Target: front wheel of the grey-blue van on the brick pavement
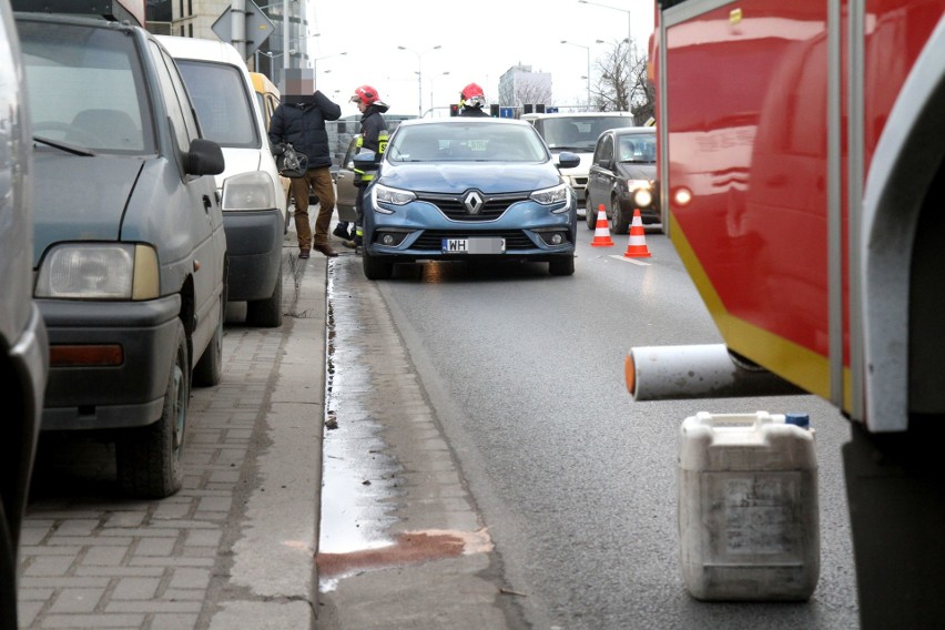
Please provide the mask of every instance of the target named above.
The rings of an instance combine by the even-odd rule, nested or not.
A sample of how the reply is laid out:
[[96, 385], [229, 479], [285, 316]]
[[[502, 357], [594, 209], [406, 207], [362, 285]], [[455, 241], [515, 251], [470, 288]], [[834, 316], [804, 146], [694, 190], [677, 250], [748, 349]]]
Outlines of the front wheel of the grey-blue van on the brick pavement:
[[191, 388], [187, 341], [177, 321], [177, 349], [167, 375], [164, 408], [156, 423], [125, 429], [115, 444], [115, 468], [121, 489], [143, 499], [163, 499], [184, 482], [183, 449]]

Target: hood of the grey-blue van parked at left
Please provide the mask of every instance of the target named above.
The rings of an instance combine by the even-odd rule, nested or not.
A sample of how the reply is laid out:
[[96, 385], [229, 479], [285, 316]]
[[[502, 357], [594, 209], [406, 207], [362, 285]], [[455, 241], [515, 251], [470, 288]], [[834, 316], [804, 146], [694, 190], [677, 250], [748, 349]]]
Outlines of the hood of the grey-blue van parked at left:
[[52, 243], [118, 241], [143, 159], [33, 154], [33, 265]]

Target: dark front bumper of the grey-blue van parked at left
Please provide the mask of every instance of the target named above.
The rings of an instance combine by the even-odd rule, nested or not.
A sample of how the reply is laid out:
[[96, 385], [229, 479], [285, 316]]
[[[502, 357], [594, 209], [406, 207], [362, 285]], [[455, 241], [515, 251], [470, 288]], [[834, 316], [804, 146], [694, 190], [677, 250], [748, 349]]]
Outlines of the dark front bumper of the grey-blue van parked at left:
[[161, 417], [176, 352], [181, 298], [149, 302], [38, 299], [49, 345], [119, 346], [119, 365], [51, 365], [42, 430], [149, 425]]

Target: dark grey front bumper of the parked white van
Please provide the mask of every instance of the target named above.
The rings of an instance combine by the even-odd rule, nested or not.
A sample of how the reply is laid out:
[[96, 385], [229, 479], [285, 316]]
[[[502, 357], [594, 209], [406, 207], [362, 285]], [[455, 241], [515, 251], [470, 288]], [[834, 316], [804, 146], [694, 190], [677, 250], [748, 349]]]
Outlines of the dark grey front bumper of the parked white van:
[[275, 291], [282, 264], [285, 222], [278, 210], [223, 213], [230, 264], [230, 302], [266, 299]]

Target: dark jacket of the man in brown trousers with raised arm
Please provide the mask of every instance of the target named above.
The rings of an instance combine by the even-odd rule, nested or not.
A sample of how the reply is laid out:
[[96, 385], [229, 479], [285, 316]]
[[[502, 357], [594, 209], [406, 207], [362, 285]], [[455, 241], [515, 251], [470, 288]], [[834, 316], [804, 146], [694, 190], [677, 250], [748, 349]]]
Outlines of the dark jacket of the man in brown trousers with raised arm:
[[[291, 101], [291, 98], [287, 98]], [[332, 152], [326, 120], [342, 118], [342, 108], [328, 96], [316, 91], [304, 102], [283, 102], [270, 121], [270, 140], [273, 144], [288, 142], [308, 156], [308, 167], [332, 165]]]

